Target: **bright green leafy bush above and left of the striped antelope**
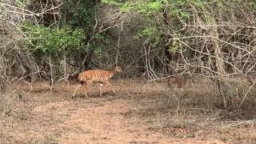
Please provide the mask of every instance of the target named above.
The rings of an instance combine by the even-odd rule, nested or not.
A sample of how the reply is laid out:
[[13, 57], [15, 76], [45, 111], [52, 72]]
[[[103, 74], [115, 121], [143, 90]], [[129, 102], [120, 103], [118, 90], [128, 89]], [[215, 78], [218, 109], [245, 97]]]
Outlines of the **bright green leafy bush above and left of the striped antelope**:
[[69, 26], [63, 29], [56, 27], [35, 26], [30, 22], [22, 23], [22, 30], [28, 38], [26, 48], [37, 58], [57, 57], [62, 54], [73, 54], [82, 47], [85, 34], [82, 29], [72, 30]]

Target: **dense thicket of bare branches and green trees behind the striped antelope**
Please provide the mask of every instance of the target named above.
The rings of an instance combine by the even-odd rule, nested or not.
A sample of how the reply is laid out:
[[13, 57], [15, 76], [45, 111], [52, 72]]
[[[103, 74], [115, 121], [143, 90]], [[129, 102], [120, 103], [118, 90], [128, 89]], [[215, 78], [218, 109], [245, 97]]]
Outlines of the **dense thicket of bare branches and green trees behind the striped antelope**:
[[53, 84], [115, 62], [123, 77], [211, 78], [224, 107], [234, 105], [234, 95], [241, 107], [254, 96], [255, 6], [242, 0], [2, 1], [0, 82], [45, 78]]

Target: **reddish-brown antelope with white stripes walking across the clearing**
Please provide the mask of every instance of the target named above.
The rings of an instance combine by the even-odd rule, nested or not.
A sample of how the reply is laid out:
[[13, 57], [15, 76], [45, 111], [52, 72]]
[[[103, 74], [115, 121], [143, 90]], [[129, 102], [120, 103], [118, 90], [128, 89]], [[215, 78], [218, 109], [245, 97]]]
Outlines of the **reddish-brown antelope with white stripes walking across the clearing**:
[[74, 94], [72, 95], [72, 98], [74, 98], [74, 95], [76, 94], [76, 91], [83, 85], [85, 85], [85, 94], [86, 98], [88, 98], [87, 95], [87, 89], [88, 86], [92, 83], [100, 83], [100, 97], [102, 97], [102, 85], [110, 86], [113, 93], [115, 94], [114, 88], [110, 83], [110, 78], [114, 76], [114, 74], [121, 73], [122, 68], [120, 66], [116, 66], [114, 64], [113, 70], [86, 70], [80, 74], [78, 74], [78, 82], [81, 82], [79, 86], [76, 87], [74, 90]]

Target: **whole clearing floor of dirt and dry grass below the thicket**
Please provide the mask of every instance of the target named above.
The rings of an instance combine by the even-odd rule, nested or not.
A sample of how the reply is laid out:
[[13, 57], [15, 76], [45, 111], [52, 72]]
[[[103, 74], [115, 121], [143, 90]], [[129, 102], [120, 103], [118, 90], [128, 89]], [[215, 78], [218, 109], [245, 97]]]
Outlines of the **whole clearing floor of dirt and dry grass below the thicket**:
[[[1, 97], [0, 142], [254, 142], [254, 90], [242, 102], [249, 85], [232, 84], [237, 90], [230, 91], [234, 96], [225, 108], [216, 86], [206, 79], [182, 89], [164, 82], [156, 86], [141, 79], [117, 80], [116, 96], [99, 98], [94, 85], [89, 99], [82, 90], [71, 99], [73, 83], [58, 83], [51, 95], [45, 82], [34, 84], [30, 93], [30, 86], [20, 83]], [[118, 134], [126, 138], [120, 140]]]

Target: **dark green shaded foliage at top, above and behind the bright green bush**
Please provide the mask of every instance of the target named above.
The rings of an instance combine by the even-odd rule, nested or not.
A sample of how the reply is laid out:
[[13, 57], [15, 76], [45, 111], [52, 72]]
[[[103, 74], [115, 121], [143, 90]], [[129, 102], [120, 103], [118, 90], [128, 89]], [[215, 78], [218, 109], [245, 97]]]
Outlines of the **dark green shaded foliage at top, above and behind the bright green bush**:
[[[95, 23], [95, 0], [85, 0], [75, 2], [73, 0], [64, 0], [61, 8], [62, 18], [59, 20], [59, 26], [70, 26], [73, 30], [82, 29], [86, 33], [86, 38], [82, 41], [85, 50], [94, 51], [95, 54], [100, 54], [103, 51], [103, 46], [98, 46], [95, 42], [104, 42], [101, 34], [92, 34]], [[93, 38], [93, 41], [89, 41]], [[89, 42], [88, 42], [89, 41]]]

